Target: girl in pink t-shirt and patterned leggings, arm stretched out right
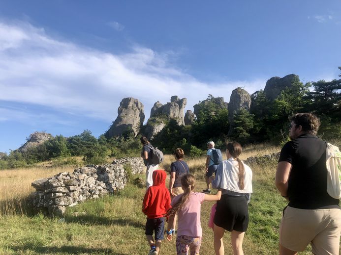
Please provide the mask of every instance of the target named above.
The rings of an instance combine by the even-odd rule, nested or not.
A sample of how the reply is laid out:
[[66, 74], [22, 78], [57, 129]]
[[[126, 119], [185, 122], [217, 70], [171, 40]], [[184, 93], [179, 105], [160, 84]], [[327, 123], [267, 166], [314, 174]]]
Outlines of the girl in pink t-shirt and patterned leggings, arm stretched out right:
[[221, 191], [216, 195], [208, 195], [193, 192], [195, 178], [191, 174], [183, 175], [181, 178], [183, 194], [172, 200], [172, 208], [168, 210], [167, 239], [172, 240], [176, 222], [174, 216], [178, 212], [178, 232], [176, 239], [177, 255], [199, 254], [201, 246], [202, 228], [200, 224], [200, 211], [203, 201], [217, 201], [220, 199]]

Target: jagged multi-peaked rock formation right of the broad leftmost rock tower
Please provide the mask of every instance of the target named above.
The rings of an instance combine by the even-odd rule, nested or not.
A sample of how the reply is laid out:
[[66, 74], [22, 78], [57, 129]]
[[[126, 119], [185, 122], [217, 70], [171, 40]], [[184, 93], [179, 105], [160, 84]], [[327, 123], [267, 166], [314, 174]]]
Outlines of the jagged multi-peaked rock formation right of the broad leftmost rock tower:
[[153, 139], [155, 134], [165, 127], [166, 122], [174, 119], [179, 125], [185, 125], [184, 114], [187, 99], [179, 99], [178, 96], [172, 96], [171, 102], [162, 104], [155, 102], [151, 109], [151, 116], [145, 127], [145, 134], [148, 139]]

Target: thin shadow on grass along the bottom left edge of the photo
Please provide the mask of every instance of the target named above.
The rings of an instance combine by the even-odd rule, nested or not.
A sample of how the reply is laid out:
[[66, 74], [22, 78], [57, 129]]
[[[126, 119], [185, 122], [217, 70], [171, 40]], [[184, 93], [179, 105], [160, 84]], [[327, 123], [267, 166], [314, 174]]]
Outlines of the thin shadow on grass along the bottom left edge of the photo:
[[79, 246], [68, 246], [64, 245], [61, 247], [56, 246], [39, 246], [34, 244], [25, 244], [23, 246], [13, 246], [8, 247], [9, 249], [20, 252], [20, 251], [31, 251], [37, 254], [54, 254], [61, 253], [65, 255], [72, 254], [100, 254], [100, 255], [127, 255], [124, 253], [114, 252], [112, 249], [103, 249], [103, 248], [86, 248]]

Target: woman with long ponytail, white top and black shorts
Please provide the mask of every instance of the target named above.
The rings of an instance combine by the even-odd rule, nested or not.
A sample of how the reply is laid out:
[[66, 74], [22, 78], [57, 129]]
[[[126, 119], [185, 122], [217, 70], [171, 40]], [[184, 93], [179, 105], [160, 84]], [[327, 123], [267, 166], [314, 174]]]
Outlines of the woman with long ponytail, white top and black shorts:
[[213, 188], [222, 189], [213, 221], [216, 255], [224, 254], [222, 238], [225, 230], [231, 232], [233, 254], [244, 254], [243, 239], [248, 229], [248, 203], [252, 193], [252, 171], [239, 159], [238, 156], [241, 153], [242, 146], [239, 143], [227, 143], [227, 160], [219, 164], [216, 178], [210, 178]]

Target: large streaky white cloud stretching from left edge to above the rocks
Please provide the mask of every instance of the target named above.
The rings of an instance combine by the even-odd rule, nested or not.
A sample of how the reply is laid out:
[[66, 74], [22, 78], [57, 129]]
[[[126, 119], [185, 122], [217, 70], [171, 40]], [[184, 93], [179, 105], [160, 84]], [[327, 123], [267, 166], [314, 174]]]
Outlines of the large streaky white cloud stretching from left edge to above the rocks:
[[[173, 95], [186, 97], [186, 108], [192, 109], [208, 94], [228, 102], [238, 86], [249, 93], [265, 86], [265, 79], [200, 82], [171, 66], [170, 54], [138, 46], [129, 53], [113, 54], [54, 39], [28, 23], [0, 22], [0, 100], [113, 121], [125, 97], [139, 99], [149, 117], [156, 101], [169, 102]], [[25, 114], [18, 112], [22, 111], [9, 114], [7, 110], [1, 121]]]

